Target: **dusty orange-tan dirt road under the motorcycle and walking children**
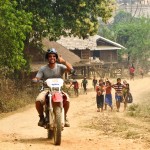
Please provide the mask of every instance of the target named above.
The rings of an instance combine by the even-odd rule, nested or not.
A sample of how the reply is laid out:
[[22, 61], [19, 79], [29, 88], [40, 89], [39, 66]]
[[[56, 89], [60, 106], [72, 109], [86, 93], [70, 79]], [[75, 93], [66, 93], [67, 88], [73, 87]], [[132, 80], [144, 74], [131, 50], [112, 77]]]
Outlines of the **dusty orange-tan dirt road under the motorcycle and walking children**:
[[[134, 103], [150, 101], [150, 78], [129, 81]], [[81, 89], [82, 91], [82, 89]], [[114, 97], [114, 96], [113, 96]], [[148, 150], [150, 122], [127, 117], [123, 112], [108, 108], [97, 112], [95, 92], [71, 98], [69, 121], [71, 127], [62, 132], [61, 146], [47, 139], [45, 129], [38, 127], [34, 105], [0, 119], [0, 150]]]

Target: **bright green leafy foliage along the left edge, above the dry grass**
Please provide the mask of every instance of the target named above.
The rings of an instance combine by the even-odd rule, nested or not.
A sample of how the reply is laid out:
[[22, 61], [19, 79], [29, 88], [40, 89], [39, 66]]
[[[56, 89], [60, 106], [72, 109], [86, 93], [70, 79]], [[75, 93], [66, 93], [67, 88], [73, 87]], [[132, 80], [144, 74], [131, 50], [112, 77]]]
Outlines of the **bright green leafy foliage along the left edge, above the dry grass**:
[[26, 64], [24, 41], [31, 31], [31, 13], [16, 10], [17, 3], [0, 1], [0, 68], [19, 70]]

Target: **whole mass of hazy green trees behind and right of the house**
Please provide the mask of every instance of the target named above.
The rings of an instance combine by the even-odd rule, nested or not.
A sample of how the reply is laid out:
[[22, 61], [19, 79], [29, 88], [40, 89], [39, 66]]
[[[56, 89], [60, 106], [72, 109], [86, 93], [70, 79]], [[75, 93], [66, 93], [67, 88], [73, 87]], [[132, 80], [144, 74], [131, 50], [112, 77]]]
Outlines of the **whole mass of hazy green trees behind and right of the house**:
[[114, 17], [112, 24], [103, 25], [99, 34], [127, 48], [126, 51], [119, 51], [119, 56], [127, 53], [130, 62], [136, 62], [148, 68], [147, 59], [150, 58], [149, 29], [149, 18], [134, 18], [130, 13], [120, 11]]

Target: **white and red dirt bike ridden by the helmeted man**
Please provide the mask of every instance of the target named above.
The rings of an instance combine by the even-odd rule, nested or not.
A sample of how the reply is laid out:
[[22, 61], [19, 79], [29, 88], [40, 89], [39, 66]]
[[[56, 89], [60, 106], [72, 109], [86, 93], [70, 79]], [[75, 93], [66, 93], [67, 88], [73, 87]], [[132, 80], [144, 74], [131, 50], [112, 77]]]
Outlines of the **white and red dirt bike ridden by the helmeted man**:
[[54, 138], [54, 144], [61, 144], [61, 134], [64, 129], [65, 115], [63, 108], [63, 92], [62, 86], [64, 81], [61, 78], [47, 79], [45, 81], [48, 87], [48, 95], [46, 96], [46, 124], [44, 126], [48, 132], [48, 138]]

